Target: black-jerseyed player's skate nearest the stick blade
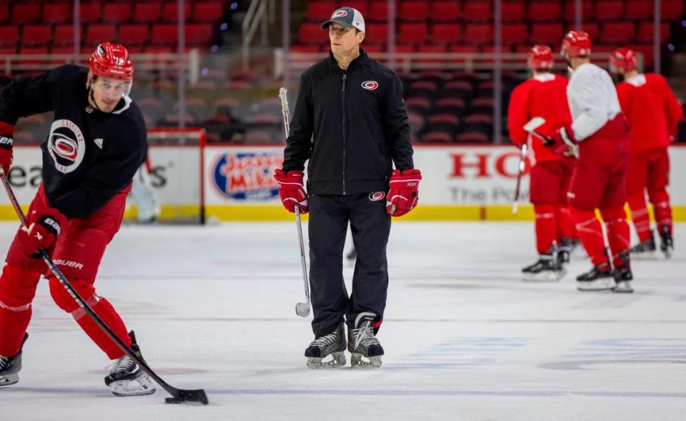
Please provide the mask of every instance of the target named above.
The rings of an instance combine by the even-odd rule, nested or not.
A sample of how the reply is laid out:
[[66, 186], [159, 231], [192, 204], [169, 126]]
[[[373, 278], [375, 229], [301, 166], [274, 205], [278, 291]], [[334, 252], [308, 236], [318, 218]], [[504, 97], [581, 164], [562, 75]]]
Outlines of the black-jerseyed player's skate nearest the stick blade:
[[[134, 335], [133, 330], [129, 332], [129, 336], [131, 337], [131, 350], [142, 359], [141, 349], [136, 344], [136, 335]], [[116, 396], [151, 395], [156, 390], [154, 382], [128, 355], [124, 355], [114, 362], [114, 367], [105, 377], [105, 385], [109, 386], [109, 389]]]

